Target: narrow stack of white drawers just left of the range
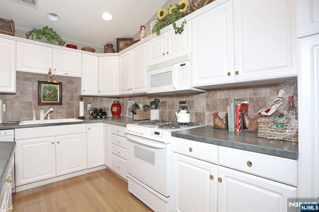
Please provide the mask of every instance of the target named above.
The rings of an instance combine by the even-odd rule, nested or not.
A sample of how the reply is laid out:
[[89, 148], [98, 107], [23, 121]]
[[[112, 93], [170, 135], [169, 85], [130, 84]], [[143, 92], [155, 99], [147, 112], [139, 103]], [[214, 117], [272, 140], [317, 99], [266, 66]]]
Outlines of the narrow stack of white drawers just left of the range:
[[111, 169], [127, 180], [126, 176], [126, 127], [111, 125]]

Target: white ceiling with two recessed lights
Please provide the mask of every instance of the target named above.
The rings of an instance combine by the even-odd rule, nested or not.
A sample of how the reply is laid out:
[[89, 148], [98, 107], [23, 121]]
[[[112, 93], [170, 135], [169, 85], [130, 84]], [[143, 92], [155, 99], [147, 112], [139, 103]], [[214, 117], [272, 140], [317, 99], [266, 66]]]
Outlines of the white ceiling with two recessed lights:
[[[29, 0], [31, 1], [31, 0]], [[15, 28], [26, 31], [49, 26], [64, 40], [104, 48], [116, 38], [132, 38], [167, 0], [36, 0], [32, 8], [11, 0], [1, 0], [0, 17], [12, 19]], [[113, 19], [102, 19], [110, 12]], [[48, 13], [60, 16], [49, 20]]]

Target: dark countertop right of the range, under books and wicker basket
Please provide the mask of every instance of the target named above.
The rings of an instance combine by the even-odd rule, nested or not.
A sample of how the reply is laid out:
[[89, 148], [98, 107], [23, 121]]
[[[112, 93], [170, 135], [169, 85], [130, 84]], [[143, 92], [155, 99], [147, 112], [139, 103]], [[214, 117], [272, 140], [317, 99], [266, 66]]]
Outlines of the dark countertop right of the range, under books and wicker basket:
[[298, 159], [298, 143], [257, 137], [252, 132], [229, 132], [206, 125], [172, 132], [172, 136], [188, 140], [248, 150], [290, 159]]

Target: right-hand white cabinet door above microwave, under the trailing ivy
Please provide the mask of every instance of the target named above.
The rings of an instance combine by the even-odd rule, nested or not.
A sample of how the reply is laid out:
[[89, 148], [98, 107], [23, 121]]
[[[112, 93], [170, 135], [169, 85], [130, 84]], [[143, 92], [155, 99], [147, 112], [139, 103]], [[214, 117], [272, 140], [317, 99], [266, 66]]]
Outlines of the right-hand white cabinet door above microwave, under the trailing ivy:
[[[184, 19], [176, 21], [176, 25], [180, 26]], [[191, 20], [188, 20], [184, 25], [184, 30], [181, 34], [175, 34], [174, 29], [166, 32], [166, 59], [176, 58], [191, 52]]]

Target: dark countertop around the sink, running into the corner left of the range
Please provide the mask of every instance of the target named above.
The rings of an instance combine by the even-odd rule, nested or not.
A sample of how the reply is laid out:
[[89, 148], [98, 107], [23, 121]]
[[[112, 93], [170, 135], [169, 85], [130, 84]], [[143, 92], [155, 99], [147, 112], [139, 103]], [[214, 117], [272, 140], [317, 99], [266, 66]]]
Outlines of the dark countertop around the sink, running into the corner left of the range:
[[81, 123], [96, 123], [103, 122], [109, 124], [115, 124], [119, 126], [126, 126], [129, 123], [137, 123], [138, 121], [133, 120], [133, 118], [127, 118], [124, 116], [120, 117], [108, 117], [108, 118], [85, 118], [83, 121], [78, 122], [60, 122], [60, 123], [41, 123], [41, 124], [28, 124], [28, 125], [19, 125], [19, 121], [15, 123], [2, 123], [0, 124], [1, 129], [17, 129], [17, 128], [27, 128], [27, 127], [39, 127], [39, 126], [56, 126], [56, 125], [66, 125], [66, 124], [81, 124]]

